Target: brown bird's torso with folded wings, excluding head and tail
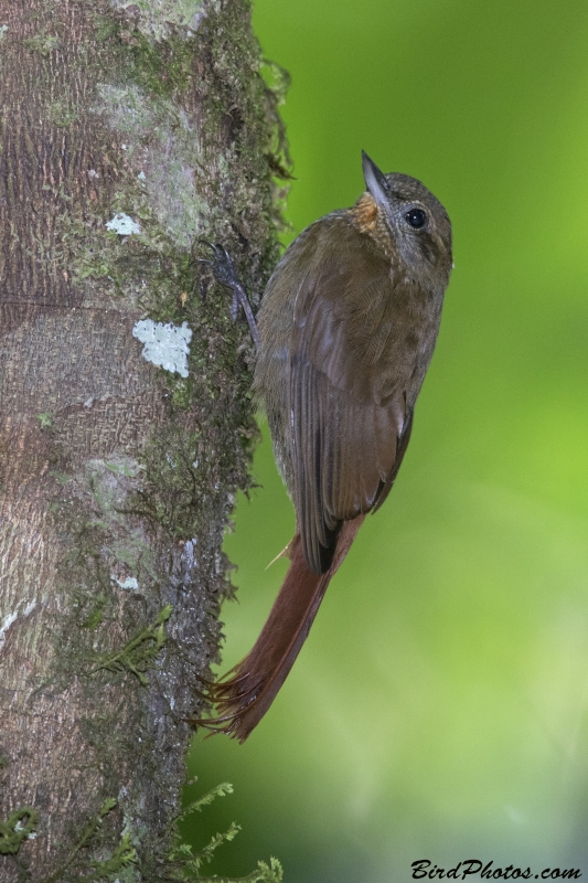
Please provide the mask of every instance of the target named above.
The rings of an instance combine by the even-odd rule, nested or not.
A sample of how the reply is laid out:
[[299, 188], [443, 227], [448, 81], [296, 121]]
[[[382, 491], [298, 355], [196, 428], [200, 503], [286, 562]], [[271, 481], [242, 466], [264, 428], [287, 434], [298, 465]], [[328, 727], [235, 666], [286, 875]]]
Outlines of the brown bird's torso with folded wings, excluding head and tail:
[[387, 496], [432, 352], [438, 316], [394, 272], [334, 213], [292, 243], [261, 304], [255, 391], [317, 574], [343, 521]]

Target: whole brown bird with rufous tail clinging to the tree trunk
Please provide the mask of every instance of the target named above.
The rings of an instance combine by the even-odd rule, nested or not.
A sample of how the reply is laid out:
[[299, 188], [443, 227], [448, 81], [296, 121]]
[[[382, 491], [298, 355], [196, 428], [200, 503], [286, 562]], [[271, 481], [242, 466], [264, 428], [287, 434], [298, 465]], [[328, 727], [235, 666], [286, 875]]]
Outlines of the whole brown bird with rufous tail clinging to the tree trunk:
[[[365, 515], [388, 496], [437, 340], [452, 269], [441, 203], [362, 151], [365, 191], [310, 224], [276, 265], [256, 318], [228, 253], [217, 278], [243, 304], [257, 345], [253, 391], [296, 510], [290, 566], [250, 652], [207, 683], [216, 716], [244, 742], [268, 711]], [[247, 304], [246, 304], [247, 301]], [[248, 309], [248, 311], [247, 311]]]

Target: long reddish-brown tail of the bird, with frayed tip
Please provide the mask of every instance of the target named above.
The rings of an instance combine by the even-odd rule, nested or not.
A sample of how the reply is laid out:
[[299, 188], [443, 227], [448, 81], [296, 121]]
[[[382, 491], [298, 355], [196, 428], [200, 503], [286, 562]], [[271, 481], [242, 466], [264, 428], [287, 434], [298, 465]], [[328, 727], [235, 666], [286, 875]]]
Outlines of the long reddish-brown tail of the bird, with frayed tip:
[[343, 523], [332, 564], [320, 575], [309, 570], [300, 535], [296, 534], [289, 546], [292, 563], [254, 648], [207, 689], [206, 698], [216, 706], [217, 716], [196, 720], [194, 724], [245, 742], [292, 668], [327, 586], [348, 554], [363, 519], [364, 515], [359, 515]]

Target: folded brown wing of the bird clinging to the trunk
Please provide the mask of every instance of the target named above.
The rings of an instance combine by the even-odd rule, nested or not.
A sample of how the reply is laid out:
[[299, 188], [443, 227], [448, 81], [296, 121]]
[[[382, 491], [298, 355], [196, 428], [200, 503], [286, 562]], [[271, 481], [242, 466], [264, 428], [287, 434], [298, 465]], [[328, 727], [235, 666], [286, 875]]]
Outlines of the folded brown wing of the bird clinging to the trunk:
[[[351, 238], [322, 248], [300, 283], [290, 347], [288, 415], [298, 530], [309, 566], [331, 564], [341, 523], [387, 496], [411, 414], [395, 375], [389, 264]], [[403, 325], [400, 320], [400, 325]]]

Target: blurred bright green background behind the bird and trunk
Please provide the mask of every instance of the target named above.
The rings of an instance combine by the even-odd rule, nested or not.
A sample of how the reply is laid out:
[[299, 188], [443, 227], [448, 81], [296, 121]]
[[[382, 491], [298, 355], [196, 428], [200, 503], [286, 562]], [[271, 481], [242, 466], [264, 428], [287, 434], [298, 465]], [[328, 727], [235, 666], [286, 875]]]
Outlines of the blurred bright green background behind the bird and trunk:
[[[393, 493], [250, 740], [196, 736], [190, 795], [235, 794], [194, 837], [236, 819], [213, 871], [274, 854], [287, 883], [588, 874], [588, 3], [256, 0], [254, 26], [292, 75], [295, 233], [354, 202], [363, 148], [445, 203], [456, 268]], [[223, 668], [293, 529], [267, 432], [255, 474]]]

